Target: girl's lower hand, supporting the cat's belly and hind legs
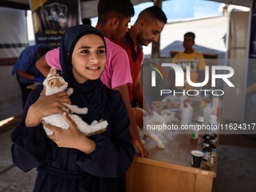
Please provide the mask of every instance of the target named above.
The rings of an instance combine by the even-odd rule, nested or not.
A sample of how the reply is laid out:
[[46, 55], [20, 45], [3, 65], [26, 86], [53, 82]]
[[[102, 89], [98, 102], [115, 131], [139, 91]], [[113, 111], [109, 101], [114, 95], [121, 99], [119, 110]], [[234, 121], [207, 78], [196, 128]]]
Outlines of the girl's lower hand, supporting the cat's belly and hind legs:
[[66, 122], [69, 123], [68, 130], [42, 122], [47, 129], [53, 131], [53, 135], [48, 136], [59, 148], [76, 148], [85, 154], [90, 154], [96, 148], [95, 142], [84, 136], [75, 122], [69, 117], [67, 112], [63, 113]]

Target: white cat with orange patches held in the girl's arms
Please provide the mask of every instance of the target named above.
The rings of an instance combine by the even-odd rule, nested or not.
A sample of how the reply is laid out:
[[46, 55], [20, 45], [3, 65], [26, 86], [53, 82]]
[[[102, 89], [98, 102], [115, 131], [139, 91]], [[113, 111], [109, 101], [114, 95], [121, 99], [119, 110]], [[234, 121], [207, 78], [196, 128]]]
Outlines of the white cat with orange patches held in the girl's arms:
[[[68, 83], [60, 77], [56, 69], [52, 67], [50, 69], [49, 74], [47, 75], [47, 78], [44, 80], [43, 84], [46, 86], [46, 96], [50, 96], [53, 93], [59, 93], [68, 87]], [[67, 90], [67, 93], [69, 96], [73, 93], [73, 89], [69, 88]], [[80, 130], [81, 133], [84, 134], [84, 136], [88, 136], [90, 133], [95, 133], [99, 130], [104, 130], [108, 126], [108, 122], [106, 120], [98, 123], [96, 120], [94, 120], [90, 125], [88, 125], [84, 120], [81, 119], [77, 114], [87, 114], [88, 108], [78, 108], [76, 105], [69, 105], [68, 103], [62, 103], [66, 105], [69, 110], [70, 114], [69, 117], [72, 118], [72, 120], [75, 121], [75, 123], [78, 126], [78, 130]], [[73, 114], [75, 113], [75, 114]], [[47, 117], [43, 117], [42, 120], [46, 121], [46, 123], [49, 123], [53, 126], [58, 126], [62, 129], [69, 129], [69, 123], [66, 122], [62, 114], [50, 114]], [[50, 136], [53, 134], [51, 130], [48, 130], [47, 127], [44, 126], [45, 133], [47, 136]]]

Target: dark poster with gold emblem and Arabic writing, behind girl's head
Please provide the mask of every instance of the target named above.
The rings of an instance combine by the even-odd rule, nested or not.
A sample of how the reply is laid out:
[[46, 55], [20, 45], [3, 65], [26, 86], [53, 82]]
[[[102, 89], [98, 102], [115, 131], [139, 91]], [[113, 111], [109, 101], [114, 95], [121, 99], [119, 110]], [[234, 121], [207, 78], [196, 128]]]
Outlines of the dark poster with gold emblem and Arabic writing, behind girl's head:
[[36, 44], [59, 47], [66, 29], [79, 23], [78, 0], [30, 0]]

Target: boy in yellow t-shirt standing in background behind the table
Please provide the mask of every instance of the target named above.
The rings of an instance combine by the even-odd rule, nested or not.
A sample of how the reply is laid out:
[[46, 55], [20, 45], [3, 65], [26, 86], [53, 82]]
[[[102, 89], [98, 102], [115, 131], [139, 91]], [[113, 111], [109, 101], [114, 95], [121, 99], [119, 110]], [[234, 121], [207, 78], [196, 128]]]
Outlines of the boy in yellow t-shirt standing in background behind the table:
[[205, 79], [206, 62], [202, 53], [198, 53], [194, 48], [196, 35], [193, 32], [187, 32], [184, 35], [184, 51], [174, 56], [173, 63], [176, 63], [184, 71], [184, 87], [175, 87], [175, 72], [171, 69], [169, 87], [177, 90], [193, 90], [194, 87], [187, 84], [187, 66], [190, 66], [190, 79], [192, 82], [203, 82]]

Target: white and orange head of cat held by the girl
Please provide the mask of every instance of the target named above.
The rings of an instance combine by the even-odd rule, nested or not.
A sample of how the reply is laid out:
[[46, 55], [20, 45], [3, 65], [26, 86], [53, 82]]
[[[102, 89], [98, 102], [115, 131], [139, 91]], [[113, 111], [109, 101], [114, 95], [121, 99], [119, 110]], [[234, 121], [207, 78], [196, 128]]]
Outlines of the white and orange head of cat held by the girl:
[[44, 80], [44, 86], [46, 86], [46, 95], [49, 96], [53, 93], [59, 93], [68, 87], [68, 83], [56, 73], [56, 69], [50, 69], [47, 78]]

